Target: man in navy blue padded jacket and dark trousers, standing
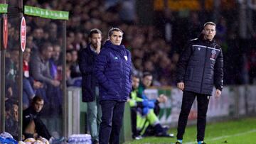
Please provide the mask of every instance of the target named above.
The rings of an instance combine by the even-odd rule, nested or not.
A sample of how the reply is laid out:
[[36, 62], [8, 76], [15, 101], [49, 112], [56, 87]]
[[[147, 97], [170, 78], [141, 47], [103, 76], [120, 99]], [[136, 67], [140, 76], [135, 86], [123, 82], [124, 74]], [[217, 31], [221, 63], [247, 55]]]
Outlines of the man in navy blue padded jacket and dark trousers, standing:
[[118, 144], [124, 116], [124, 104], [132, 90], [132, 60], [129, 50], [121, 45], [123, 32], [111, 28], [95, 62], [100, 86], [102, 123], [100, 144]]

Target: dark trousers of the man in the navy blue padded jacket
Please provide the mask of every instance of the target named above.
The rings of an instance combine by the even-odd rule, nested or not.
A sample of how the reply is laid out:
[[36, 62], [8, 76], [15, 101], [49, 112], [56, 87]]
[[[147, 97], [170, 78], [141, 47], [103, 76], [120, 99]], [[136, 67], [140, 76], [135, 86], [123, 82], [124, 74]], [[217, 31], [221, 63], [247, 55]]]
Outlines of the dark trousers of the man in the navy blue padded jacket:
[[102, 122], [100, 123], [100, 144], [118, 144], [124, 117], [124, 104], [121, 101], [100, 101]]

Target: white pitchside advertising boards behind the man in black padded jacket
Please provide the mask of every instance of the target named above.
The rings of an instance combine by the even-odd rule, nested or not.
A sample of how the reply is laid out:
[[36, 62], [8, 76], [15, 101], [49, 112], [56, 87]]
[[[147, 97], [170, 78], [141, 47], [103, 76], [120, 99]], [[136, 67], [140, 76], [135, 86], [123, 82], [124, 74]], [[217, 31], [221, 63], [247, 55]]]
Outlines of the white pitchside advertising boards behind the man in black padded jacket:
[[[214, 121], [215, 118], [230, 118], [238, 116], [247, 116], [256, 114], [256, 86], [229, 86], [224, 87], [219, 99], [210, 96], [208, 106], [208, 120]], [[161, 112], [159, 114], [160, 121], [163, 124], [174, 124], [178, 121], [178, 115], [181, 110], [181, 101], [183, 92], [179, 89], [146, 89], [146, 96], [149, 99], [156, 98], [159, 94], [169, 96], [166, 104], [161, 104]], [[196, 100], [191, 108], [191, 113], [188, 116], [189, 120], [197, 118], [197, 103]]]

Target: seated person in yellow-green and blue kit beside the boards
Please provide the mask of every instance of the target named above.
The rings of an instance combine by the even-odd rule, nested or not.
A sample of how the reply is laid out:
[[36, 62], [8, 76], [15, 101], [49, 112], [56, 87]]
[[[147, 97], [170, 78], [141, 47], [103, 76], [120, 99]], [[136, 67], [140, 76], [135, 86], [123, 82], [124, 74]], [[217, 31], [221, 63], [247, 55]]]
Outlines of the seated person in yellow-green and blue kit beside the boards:
[[161, 95], [157, 99], [149, 100], [142, 94], [139, 96], [139, 77], [132, 77], [132, 93], [129, 99], [129, 105], [131, 106], [131, 118], [132, 118], [132, 138], [141, 139], [140, 135], [149, 135], [145, 133], [146, 128], [151, 126], [153, 131], [150, 135], [173, 137], [174, 134], [168, 134], [168, 128], [161, 126], [159, 118], [154, 113], [155, 104], [165, 102], [166, 96]]

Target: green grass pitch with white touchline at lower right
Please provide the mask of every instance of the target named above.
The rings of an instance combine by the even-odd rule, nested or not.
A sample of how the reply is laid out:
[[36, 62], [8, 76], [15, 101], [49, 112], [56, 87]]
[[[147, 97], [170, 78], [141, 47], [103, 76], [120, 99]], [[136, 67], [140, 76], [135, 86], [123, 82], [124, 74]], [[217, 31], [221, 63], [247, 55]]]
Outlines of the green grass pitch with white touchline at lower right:
[[[176, 135], [176, 128], [170, 132]], [[147, 137], [125, 144], [174, 144], [176, 138]], [[256, 144], [256, 118], [243, 118], [234, 121], [208, 123], [205, 142], [207, 144]], [[183, 136], [183, 144], [196, 144], [196, 126], [188, 126]]]

